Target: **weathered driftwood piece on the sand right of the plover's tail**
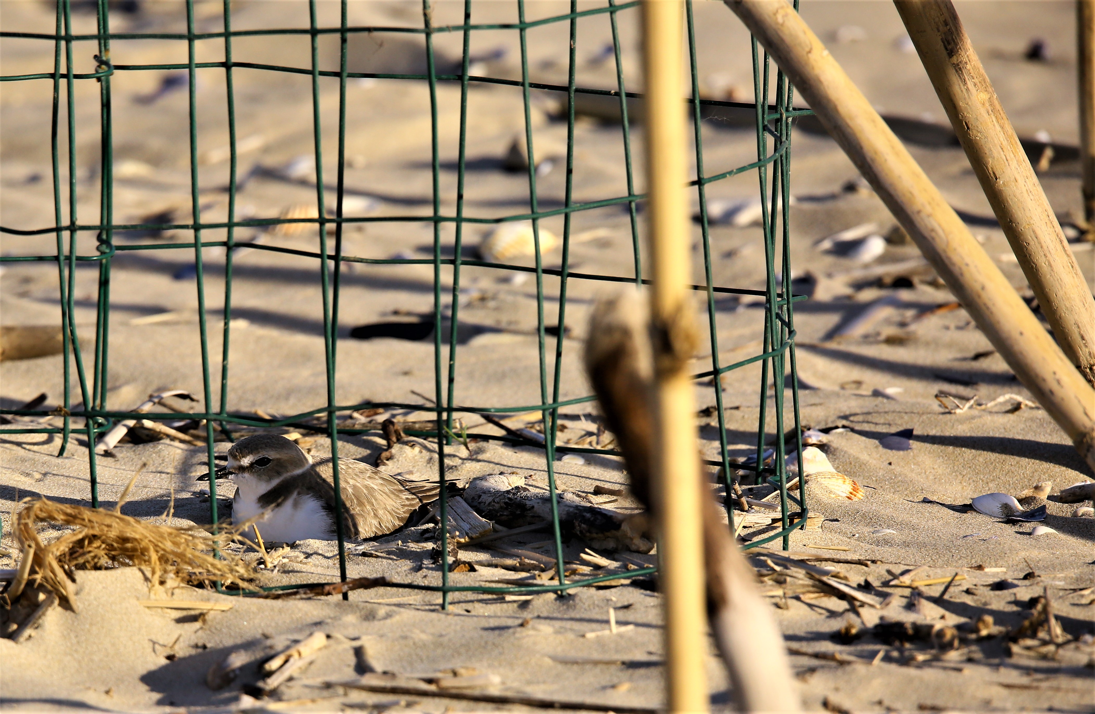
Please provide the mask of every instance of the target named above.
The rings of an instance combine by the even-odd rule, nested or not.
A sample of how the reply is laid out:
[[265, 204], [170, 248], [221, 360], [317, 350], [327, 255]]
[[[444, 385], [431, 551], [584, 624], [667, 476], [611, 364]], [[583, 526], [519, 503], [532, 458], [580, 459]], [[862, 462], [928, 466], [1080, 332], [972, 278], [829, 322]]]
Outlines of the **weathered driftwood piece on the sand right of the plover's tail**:
[[[494, 474], [474, 479], [463, 498], [480, 515], [507, 527], [530, 525], [550, 519], [551, 496], [525, 486], [525, 476]], [[579, 496], [556, 494], [560, 528], [583, 538], [593, 548], [608, 551], [629, 550], [649, 553], [654, 542], [646, 536], [642, 514], [621, 514], [591, 506]]]

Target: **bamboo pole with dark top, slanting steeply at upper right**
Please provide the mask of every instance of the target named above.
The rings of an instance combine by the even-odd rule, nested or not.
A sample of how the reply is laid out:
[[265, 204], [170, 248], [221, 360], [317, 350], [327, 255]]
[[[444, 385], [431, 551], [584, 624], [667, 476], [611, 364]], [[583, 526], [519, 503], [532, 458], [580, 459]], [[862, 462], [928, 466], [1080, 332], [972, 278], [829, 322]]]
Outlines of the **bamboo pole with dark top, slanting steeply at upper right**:
[[958, 12], [950, 0], [894, 4], [1042, 314], [1061, 349], [1095, 384], [1095, 299]]

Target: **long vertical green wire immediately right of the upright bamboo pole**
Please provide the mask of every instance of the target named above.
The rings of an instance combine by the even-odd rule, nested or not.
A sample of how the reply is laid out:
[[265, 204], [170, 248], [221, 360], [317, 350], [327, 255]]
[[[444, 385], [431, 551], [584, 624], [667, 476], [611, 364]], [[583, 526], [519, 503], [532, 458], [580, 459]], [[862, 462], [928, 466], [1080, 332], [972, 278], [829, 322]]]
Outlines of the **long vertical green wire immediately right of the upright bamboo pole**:
[[695, 24], [692, 15], [692, 0], [684, 3], [688, 21], [688, 49], [692, 74], [692, 124], [695, 134], [695, 177], [700, 194], [700, 229], [703, 234], [703, 266], [707, 281], [707, 326], [711, 331], [711, 368], [715, 372], [715, 408], [718, 410], [718, 448], [723, 461], [723, 480], [726, 483], [726, 517], [730, 532], [734, 532], [734, 498], [730, 457], [726, 445], [726, 413], [723, 411], [723, 383], [718, 359], [718, 327], [715, 321], [715, 290], [711, 258], [711, 231], [707, 223], [707, 188], [703, 183], [703, 129], [700, 125], [700, 72], [695, 57]]

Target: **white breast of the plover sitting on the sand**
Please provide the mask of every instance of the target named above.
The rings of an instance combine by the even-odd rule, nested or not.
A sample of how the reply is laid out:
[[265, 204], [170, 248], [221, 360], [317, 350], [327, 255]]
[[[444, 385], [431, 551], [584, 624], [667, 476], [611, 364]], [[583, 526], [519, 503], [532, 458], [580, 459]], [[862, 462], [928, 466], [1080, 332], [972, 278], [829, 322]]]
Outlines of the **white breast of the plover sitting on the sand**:
[[[235, 481], [237, 491], [232, 498], [233, 523], [242, 523], [258, 516], [258, 520], [255, 521], [258, 523], [258, 532], [262, 533], [263, 540], [267, 541], [291, 543], [309, 539], [334, 540], [334, 523], [319, 498], [298, 491], [278, 506], [266, 510], [258, 504], [258, 498], [274, 484], [261, 484], [253, 479], [239, 476]], [[254, 539], [254, 528], [246, 529], [243, 536]]]

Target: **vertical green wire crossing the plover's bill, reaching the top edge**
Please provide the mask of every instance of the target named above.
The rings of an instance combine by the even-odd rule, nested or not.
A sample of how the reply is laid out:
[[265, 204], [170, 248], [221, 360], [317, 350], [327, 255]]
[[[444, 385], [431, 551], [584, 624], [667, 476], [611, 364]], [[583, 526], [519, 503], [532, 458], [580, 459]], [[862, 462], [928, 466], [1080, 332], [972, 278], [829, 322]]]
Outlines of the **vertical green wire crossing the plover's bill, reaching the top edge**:
[[[194, 215], [194, 268], [198, 295], [198, 333], [201, 337], [201, 389], [206, 413], [212, 412], [212, 381], [209, 370], [209, 326], [206, 318], [205, 265], [201, 255], [201, 203], [198, 197], [197, 58], [194, 37], [194, 0], [186, 0], [186, 61], [191, 135], [191, 210]], [[214, 459], [212, 419], [206, 419], [206, 461], [209, 467], [209, 518], [217, 532], [217, 464]]]

